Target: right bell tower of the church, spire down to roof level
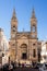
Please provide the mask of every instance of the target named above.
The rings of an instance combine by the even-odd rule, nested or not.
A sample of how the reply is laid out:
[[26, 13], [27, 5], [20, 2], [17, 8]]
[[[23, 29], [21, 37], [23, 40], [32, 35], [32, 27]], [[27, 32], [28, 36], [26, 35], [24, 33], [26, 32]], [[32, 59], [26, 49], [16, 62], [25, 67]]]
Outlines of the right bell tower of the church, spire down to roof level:
[[32, 17], [31, 17], [31, 34], [33, 38], [37, 38], [37, 20], [35, 16], [35, 11], [33, 9]]

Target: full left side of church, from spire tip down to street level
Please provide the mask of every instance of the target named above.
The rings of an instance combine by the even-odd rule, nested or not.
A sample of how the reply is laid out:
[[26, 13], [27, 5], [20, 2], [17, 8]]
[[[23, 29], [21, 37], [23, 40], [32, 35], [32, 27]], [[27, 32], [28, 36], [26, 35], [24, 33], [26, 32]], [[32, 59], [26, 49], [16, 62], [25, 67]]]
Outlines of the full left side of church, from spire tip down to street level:
[[11, 19], [11, 38], [10, 38], [10, 59], [15, 60], [16, 58], [16, 33], [17, 33], [17, 19], [15, 15], [15, 9]]

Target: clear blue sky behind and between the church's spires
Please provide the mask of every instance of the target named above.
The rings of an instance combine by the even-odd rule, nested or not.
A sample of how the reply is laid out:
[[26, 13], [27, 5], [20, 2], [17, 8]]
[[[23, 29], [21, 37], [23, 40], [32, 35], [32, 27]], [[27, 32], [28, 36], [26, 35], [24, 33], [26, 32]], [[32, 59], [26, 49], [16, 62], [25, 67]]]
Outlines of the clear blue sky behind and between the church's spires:
[[31, 31], [33, 7], [37, 17], [37, 36], [39, 40], [47, 39], [47, 0], [0, 0], [0, 27], [7, 38], [10, 38], [11, 17], [15, 8], [17, 31]]

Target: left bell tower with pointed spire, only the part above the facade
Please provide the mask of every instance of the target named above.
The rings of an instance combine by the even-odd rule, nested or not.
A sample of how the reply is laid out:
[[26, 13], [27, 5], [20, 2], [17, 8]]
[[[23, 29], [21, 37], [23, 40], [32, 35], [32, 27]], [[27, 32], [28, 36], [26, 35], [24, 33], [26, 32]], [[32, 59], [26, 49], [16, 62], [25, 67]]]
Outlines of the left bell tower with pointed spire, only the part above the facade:
[[13, 15], [11, 19], [11, 38], [15, 38], [17, 32], [17, 19], [15, 15], [15, 9], [13, 9]]

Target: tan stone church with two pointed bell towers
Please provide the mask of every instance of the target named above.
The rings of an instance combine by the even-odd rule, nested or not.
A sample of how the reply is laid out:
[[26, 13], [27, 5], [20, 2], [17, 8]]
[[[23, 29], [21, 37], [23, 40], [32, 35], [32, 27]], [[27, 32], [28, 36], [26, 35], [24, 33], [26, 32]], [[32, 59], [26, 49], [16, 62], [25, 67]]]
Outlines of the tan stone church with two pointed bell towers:
[[17, 32], [15, 9], [11, 19], [10, 60], [38, 61], [40, 60], [42, 42], [37, 38], [37, 19], [33, 9], [31, 32]]

